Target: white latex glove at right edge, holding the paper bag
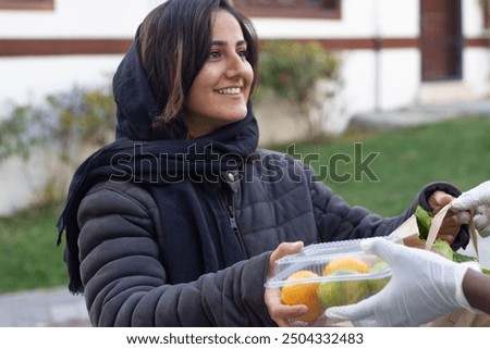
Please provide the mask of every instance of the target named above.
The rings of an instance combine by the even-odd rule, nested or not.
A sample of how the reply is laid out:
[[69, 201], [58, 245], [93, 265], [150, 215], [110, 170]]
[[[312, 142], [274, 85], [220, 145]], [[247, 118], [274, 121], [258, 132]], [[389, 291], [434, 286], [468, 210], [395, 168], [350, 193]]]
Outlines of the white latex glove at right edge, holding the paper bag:
[[456, 212], [475, 210], [475, 227], [481, 237], [490, 236], [490, 180], [463, 192], [451, 202], [451, 209]]

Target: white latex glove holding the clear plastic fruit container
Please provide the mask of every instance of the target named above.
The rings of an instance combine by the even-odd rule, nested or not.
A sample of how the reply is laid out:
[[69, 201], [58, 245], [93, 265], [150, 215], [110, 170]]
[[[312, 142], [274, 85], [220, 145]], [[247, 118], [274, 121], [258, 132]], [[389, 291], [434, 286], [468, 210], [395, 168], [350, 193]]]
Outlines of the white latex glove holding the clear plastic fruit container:
[[468, 267], [479, 269], [476, 263], [455, 263], [383, 238], [366, 239], [362, 247], [390, 264], [392, 277], [370, 298], [327, 309], [330, 320], [355, 326], [418, 326], [458, 307], [470, 309], [462, 283]]

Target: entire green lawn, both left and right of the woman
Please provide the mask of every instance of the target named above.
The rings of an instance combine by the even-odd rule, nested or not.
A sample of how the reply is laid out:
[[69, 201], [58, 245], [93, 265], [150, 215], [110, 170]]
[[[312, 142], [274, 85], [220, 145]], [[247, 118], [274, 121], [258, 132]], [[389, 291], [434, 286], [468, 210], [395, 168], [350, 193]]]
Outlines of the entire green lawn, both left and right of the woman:
[[[324, 182], [348, 203], [394, 215], [430, 182], [446, 180], [466, 190], [490, 178], [489, 130], [490, 119], [465, 117], [297, 144], [295, 153], [311, 160]], [[286, 146], [274, 149], [284, 151]], [[365, 163], [368, 171], [359, 171], [360, 163], [375, 153], [376, 158]], [[345, 180], [346, 175], [352, 177]], [[0, 292], [66, 285], [63, 249], [56, 246], [60, 209], [61, 204], [46, 204], [0, 220]]]

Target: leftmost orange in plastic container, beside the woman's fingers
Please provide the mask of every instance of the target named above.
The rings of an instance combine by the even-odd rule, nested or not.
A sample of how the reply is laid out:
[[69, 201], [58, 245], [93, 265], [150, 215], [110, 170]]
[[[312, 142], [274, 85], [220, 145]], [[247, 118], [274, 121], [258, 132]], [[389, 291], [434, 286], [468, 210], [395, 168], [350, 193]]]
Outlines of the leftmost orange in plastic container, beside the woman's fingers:
[[[298, 271], [291, 274], [286, 281], [317, 277], [318, 274], [310, 271]], [[305, 304], [308, 312], [297, 320], [311, 322], [317, 320], [323, 310], [317, 299], [318, 283], [289, 284], [282, 287], [281, 301], [287, 306]]]

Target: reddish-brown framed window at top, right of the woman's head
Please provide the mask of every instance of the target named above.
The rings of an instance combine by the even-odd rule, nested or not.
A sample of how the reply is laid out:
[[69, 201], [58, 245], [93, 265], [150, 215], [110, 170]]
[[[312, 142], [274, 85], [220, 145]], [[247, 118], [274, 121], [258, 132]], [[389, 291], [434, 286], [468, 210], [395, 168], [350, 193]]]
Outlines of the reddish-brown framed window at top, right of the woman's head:
[[341, 0], [235, 0], [248, 16], [340, 18]]

